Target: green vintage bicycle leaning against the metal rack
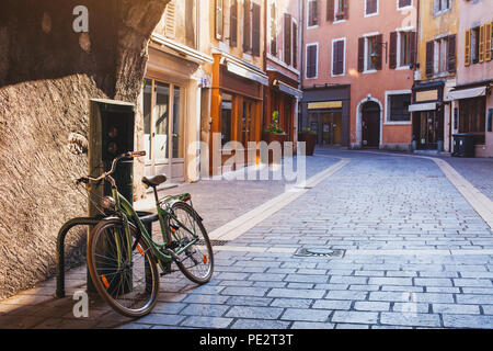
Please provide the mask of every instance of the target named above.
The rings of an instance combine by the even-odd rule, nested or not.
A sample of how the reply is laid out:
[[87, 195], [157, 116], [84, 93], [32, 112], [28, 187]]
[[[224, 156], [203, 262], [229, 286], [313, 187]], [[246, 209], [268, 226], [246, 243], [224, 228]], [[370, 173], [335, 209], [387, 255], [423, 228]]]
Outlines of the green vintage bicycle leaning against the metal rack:
[[[146, 226], [116, 186], [112, 174], [118, 161], [146, 156], [129, 151], [117, 156], [111, 170], [100, 177], [82, 177], [77, 184], [91, 182], [111, 184], [112, 196], [101, 199], [105, 217], [94, 226], [88, 238], [87, 258], [91, 280], [116, 312], [141, 317], [151, 312], [159, 294], [160, 275], [173, 272], [172, 262], [192, 282], [207, 283], [213, 276], [214, 252], [202, 217], [193, 208], [191, 195], [158, 197], [157, 186], [167, 181], [164, 174], [142, 178], [152, 188], [161, 237], [152, 239]], [[158, 265], [162, 273], [158, 272]]]

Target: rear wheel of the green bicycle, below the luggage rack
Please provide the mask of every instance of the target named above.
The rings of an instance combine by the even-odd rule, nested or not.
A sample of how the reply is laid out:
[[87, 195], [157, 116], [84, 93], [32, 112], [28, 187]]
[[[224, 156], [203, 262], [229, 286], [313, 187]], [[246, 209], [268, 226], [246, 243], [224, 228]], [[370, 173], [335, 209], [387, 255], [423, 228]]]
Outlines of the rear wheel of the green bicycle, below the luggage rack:
[[[192, 282], [205, 284], [210, 281], [214, 271], [214, 252], [207, 230], [192, 206], [184, 202], [174, 203], [171, 213], [181, 224], [175, 218], [168, 217], [167, 227], [174, 231], [174, 251], [187, 247], [180, 254], [176, 265]], [[190, 245], [193, 240], [196, 242]]]

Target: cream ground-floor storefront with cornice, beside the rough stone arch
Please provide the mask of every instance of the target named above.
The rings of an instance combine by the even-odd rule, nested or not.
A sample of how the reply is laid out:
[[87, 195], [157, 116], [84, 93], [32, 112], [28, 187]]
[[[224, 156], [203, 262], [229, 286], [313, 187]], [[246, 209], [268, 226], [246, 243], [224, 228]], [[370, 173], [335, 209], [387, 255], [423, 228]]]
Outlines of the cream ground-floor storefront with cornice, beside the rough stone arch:
[[188, 148], [199, 140], [200, 66], [211, 61], [196, 50], [153, 36], [142, 88], [146, 176], [165, 173], [169, 183], [196, 181], [196, 152]]

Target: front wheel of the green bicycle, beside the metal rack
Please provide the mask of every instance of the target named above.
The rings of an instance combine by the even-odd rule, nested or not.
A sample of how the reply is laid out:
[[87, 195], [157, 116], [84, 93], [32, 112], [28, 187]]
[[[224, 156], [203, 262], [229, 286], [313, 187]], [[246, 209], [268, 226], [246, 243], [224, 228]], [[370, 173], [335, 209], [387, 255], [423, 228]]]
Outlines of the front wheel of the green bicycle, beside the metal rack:
[[127, 317], [147, 315], [156, 305], [159, 272], [150, 247], [129, 224], [130, 238], [118, 218], [103, 219], [88, 240], [88, 267], [98, 293]]

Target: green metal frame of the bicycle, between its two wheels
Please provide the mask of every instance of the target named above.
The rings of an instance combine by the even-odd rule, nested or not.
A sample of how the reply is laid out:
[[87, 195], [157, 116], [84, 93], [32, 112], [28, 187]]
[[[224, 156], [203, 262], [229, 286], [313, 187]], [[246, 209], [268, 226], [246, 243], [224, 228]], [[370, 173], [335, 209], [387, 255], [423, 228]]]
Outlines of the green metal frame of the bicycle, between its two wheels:
[[[195, 242], [198, 241], [197, 235], [195, 235], [184, 224], [182, 224], [176, 218], [176, 216], [174, 216], [173, 213], [161, 208], [161, 206], [159, 206], [159, 203], [157, 203], [156, 205], [157, 205], [157, 210], [158, 210], [158, 217], [159, 217], [161, 233], [162, 233], [164, 242], [163, 244], [154, 242], [152, 240], [152, 238], [151, 238], [151, 235], [147, 231], [147, 229], [144, 226], [142, 222], [139, 219], [139, 216], [137, 215], [137, 213], [134, 210], [134, 207], [131, 206], [131, 204], [118, 192], [116, 186], [113, 186], [113, 184], [112, 184], [112, 195], [113, 195], [113, 199], [115, 199], [115, 201], [116, 201], [116, 204], [115, 204], [116, 213], [124, 220], [124, 228], [125, 228], [125, 234], [126, 234], [127, 238], [130, 238], [130, 230], [129, 230], [129, 226], [128, 226], [128, 218], [131, 218], [135, 222], [135, 224], [137, 225], [138, 229], [140, 230], [141, 237], [144, 237], [144, 239], [147, 241], [147, 244], [149, 244], [149, 247], [151, 249], [152, 254], [157, 258], [158, 263], [159, 263], [159, 265], [161, 267], [161, 269], [163, 271], [164, 271], [164, 268], [163, 268], [162, 263], [163, 262], [170, 262], [170, 261], [174, 260], [172, 254], [167, 254], [167, 253], [163, 252], [163, 248], [165, 247], [167, 244], [169, 244], [169, 241], [168, 241], [168, 238], [169, 238], [168, 233], [164, 233], [164, 225], [163, 225], [164, 224], [164, 219], [167, 219], [168, 217], [173, 218], [181, 228], [183, 228], [184, 230], [188, 231], [194, 237], [194, 239], [191, 242], [188, 242], [186, 246], [184, 246], [183, 248], [180, 248], [179, 250], [176, 250], [174, 252], [176, 256], [180, 256], [185, 250], [187, 250], [192, 245], [194, 245]], [[171, 233], [171, 235], [174, 236], [174, 233]], [[174, 237], [174, 238], [176, 239], [176, 237]], [[131, 242], [131, 240], [127, 240], [127, 242]]]

